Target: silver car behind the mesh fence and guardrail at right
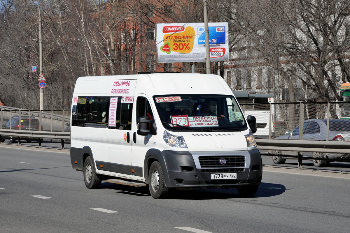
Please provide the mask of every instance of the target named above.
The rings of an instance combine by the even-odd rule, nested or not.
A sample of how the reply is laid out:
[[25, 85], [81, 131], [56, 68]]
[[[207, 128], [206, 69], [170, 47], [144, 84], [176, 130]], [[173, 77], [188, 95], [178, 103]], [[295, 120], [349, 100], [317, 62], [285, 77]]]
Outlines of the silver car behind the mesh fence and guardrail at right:
[[[303, 140], [323, 140], [327, 138], [327, 119], [310, 119], [304, 121], [303, 124]], [[276, 139], [299, 140], [299, 125], [292, 132], [287, 132], [286, 135], [277, 137]], [[350, 120], [330, 119], [329, 120], [329, 141], [350, 141]], [[295, 159], [297, 152], [287, 151], [272, 151], [272, 159], [275, 164], [283, 164], [286, 159]], [[280, 156], [282, 155], [282, 156]], [[290, 158], [283, 155], [292, 155]], [[303, 152], [303, 156], [312, 158], [324, 158], [325, 160], [313, 159], [315, 167], [326, 166], [331, 159], [350, 159], [349, 154], [325, 154], [319, 152]]]

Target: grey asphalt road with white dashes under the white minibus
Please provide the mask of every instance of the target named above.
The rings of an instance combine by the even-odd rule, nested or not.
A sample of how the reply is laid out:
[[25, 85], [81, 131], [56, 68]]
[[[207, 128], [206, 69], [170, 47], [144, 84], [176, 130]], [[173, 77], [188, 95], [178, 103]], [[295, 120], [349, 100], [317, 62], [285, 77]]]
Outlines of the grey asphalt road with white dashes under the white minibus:
[[69, 151], [0, 145], [0, 232], [349, 232], [350, 174], [263, 168], [255, 197], [103, 182], [87, 189]]

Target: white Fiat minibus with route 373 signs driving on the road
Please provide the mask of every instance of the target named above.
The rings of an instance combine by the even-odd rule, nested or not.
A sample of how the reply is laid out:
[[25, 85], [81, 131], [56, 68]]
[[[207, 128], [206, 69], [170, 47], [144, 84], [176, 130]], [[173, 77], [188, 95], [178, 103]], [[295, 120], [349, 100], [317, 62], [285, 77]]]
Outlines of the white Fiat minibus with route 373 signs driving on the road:
[[262, 162], [253, 116], [242, 114], [214, 74], [149, 73], [80, 77], [71, 107], [72, 167], [87, 188], [101, 181], [172, 188], [237, 188], [253, 196]]

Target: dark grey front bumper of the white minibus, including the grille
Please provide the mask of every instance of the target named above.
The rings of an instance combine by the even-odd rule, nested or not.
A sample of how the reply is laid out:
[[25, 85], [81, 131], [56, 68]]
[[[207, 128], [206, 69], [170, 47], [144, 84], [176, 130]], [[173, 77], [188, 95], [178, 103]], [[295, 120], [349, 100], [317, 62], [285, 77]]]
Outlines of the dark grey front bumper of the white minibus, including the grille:
[[[257, 149], [224, 153], [162, 151], [161, 154], [166, 168], [163, 169], [164, 179], [169, 188], [240, 188], [261, 183], [262, 162]], [[227, 163], [222, 165], [221, 159]], [[213, 177], [215, 175], [219, 177]]]

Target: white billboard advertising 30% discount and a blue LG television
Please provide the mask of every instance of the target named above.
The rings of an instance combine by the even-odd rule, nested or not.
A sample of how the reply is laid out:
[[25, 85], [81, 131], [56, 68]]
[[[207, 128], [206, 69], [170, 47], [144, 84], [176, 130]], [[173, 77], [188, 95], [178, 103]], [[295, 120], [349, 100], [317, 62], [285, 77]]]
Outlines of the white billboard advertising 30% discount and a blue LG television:
[[[229, 24], [209, 23], [211, 61], [229, 60]], [[204, 23], [156, 24], [157, 62], [205, 61]]]

